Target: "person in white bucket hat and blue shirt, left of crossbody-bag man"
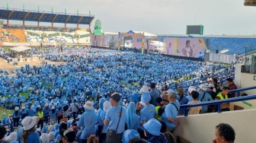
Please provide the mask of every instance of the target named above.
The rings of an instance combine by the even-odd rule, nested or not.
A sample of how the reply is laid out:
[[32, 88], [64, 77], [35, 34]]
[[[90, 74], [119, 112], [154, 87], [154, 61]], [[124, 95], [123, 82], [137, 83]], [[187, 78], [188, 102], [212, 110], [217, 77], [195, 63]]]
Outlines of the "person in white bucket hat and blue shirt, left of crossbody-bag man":
[[82, 113], [81, 119], [78, 121], [78, 128], [82, 128], [80, 139], [86, 142], [88, 135], [95, 134], [95, 125], [98, 123], [98, 116], [93, 107], [94, 103], [87, 101], [85, 103], [85, 113]]

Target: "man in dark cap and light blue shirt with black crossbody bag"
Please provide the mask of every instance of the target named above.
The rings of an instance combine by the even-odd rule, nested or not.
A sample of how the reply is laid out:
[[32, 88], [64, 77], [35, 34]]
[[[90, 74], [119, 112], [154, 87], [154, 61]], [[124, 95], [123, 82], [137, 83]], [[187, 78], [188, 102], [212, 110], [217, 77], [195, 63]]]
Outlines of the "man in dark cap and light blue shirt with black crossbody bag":
[[104, 125], [107, 129], [107, 143], [122, 143], [122, 136], [126, 122], [126, 108], [119, 106], [120, 94], [114, 93], [110, 97], [110, 103], [113, 108], [107, 110]]

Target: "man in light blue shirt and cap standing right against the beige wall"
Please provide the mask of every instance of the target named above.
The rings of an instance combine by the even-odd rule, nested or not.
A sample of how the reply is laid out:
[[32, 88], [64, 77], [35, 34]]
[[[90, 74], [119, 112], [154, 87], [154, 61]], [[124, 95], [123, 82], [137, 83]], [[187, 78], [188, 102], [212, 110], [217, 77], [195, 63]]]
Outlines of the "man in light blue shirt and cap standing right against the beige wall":
[[170, 92], [167, 95], [169, 103], [165, 106], [165, 112], [162, 113], [162, 120], [166, 123], [167, 131], [172, 133], [176, 126], [179, 125], [177, 115], [180, 109], [180, 103], [176, 100], [177, 95], [174, 92]]

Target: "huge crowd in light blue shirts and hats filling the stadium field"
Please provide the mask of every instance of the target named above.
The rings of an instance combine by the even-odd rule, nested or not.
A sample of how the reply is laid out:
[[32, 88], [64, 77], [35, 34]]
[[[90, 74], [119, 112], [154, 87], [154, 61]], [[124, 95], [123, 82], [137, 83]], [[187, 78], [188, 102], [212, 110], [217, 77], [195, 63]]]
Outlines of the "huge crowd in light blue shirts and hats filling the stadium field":
[[[181, 105], [235, 96], [228, 94], [229, 87], [236, 87], [232, 78], [226, 79], [229, 87], [220, 87], [214, 78], [222, 65], [109, 49], [60, 51], [34, 50], [42, 66], [27, 64], [13, 77], [0, 77], [0, 104], [14, 110], [18, 129], [3, 141], [174, 142], [177, 116], [185, 113]], [[208, 75], [210, 84], [182, 87], [184, 81]], [[221, 108], [228, 111], [229, 104]], [[216, 106], [189, 110], [212, 112]]]

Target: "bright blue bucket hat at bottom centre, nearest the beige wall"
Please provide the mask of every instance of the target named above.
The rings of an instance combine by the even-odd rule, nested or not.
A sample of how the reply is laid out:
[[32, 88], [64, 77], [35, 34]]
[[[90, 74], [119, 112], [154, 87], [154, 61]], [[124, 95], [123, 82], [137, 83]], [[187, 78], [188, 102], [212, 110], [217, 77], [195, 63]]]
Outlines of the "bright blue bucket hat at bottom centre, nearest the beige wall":
[[162, 124], [157, 119], [150, 119], [144, 125], [147, 132], [152, 135], [160, 135], [160, 129]]

